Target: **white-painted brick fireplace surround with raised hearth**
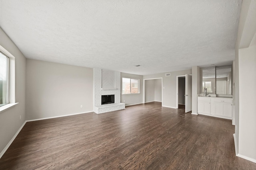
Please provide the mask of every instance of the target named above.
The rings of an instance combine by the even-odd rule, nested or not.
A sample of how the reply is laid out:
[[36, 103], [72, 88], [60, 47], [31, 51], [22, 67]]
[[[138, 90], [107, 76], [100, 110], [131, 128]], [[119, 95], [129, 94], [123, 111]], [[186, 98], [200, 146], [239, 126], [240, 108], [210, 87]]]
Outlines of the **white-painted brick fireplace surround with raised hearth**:
[[[125, 109], [125, 104], [120, 103], [121, 91], [120, 91], [120, 72], [103, 70], [101, 68], [93, 69], [93, 83], [94, 83], [94, 112], [105, 113], [108, 111], [115, 111]], [[101, 105], [102, 95], [115, 95], [114, 104]]]

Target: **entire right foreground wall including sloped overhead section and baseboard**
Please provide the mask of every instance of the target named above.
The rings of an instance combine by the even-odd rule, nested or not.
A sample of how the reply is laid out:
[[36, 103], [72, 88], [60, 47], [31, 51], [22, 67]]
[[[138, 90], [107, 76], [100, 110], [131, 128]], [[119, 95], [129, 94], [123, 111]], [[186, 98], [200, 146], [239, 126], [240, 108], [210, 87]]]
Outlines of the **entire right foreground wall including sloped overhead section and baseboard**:
[[[246, 158], [253, 162], [256, 162], [256, 118], [255, 109], [254, 107], [252, 107], [255, 105], [255, 98], [250, 96], [255, 96], [256, 92], [251, 91], [249, 92], [250, 96], [248, 96], [248, 88], [250, 88], [250, 86], [255, 86], [256, 81], [256, 76], [254, 73], [256, 67], [255, 15], [256, 1], [243, 0], [236, 38], [236, 58], [233, 64], [235, 83], [235, 89], [233, 88], [235, 105], [234, 140], [236, 146], [236, 154], [242, 158]], [[249, 72], [245, 73], [248, 69], [250, 69]], [[250, 78], [250, 82], [248, 82], [248, 79], [245, 80], [245, 78]], [[246, 108], [245, 106], [247, 106], [248, 108]]]

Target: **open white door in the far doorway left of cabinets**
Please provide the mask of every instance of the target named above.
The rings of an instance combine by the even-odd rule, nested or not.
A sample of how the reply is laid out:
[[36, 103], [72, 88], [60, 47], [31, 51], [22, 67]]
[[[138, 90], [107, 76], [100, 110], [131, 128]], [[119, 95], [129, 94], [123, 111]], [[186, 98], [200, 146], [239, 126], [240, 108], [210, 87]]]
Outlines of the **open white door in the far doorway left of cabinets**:
[[192, 110], [192, 76], [185, 76], [185, 113]]

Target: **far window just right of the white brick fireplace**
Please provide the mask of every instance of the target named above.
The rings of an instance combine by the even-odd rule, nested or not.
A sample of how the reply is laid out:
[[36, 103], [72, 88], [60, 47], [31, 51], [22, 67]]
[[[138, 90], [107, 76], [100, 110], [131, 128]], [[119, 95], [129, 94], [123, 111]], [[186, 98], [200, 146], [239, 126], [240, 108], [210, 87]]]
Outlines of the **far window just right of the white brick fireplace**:
[[122, 94], [140, 93], [139, 82], [139, 79], [122, 78]]

